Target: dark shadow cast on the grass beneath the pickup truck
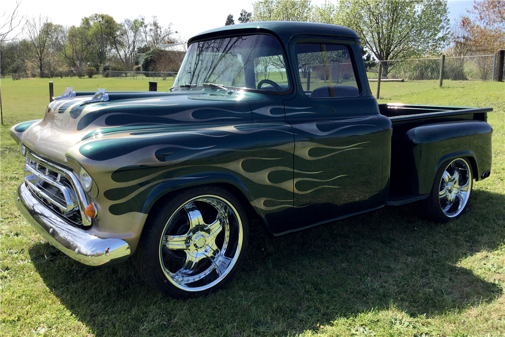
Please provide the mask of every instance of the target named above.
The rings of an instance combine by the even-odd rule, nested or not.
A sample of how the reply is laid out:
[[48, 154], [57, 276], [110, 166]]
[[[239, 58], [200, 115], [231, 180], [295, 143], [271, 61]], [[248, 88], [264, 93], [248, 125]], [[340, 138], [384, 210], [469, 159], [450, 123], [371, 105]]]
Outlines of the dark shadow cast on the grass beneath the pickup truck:
[[502, 244], [505, 196], [474, 190], [466, 214], [446, 225], [422, 219], [418, 206], [280, 238], [252, 228], [235, 278], [187, 301], [151, 290], [130, 262], [88, 267], [48, 244], [33, 246], [30, 256], [54, 295], [97, 336], [294, 334], [371, 310], [429, 317], [501, 296], [457, 263]]

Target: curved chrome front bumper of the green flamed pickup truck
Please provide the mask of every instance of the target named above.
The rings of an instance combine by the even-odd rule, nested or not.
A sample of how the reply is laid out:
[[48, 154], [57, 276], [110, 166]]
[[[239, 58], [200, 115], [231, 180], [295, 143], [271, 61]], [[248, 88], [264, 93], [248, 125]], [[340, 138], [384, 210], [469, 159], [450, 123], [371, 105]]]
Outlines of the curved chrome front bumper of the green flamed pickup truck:
[[129, 257], [130, 246], [124, 240], [98, 237], [71, 225], [36, 199], [25, 183], [19, 186], [15, 197], [16, 206], [33, 228], [72, 259], [98, 266], [122, 262]]

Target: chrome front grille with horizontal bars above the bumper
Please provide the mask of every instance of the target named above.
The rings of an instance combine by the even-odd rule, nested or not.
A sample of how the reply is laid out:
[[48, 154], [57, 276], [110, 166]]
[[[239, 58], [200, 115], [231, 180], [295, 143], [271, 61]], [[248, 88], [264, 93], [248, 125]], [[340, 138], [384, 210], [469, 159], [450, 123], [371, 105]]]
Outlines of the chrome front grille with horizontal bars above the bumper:
[[42, 204], [75, 225], [87, 224], [83, 223], [72, 169], [27, 153], [24, 170], [26, 185]]

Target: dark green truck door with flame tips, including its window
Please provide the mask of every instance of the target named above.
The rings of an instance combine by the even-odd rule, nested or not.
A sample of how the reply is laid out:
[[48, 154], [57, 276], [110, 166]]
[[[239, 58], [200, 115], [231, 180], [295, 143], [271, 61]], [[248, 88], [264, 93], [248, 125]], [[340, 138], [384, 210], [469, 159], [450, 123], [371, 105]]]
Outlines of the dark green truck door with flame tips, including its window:
[[390, 122], [363, 90], [368, 83], [359, 80], [354, 54], [361, 47], [354, 43], [327, 38], [291, 43], [297, 92], [284, 106], [295, 139], [298, 227], [381, 206], [387, 183], [383, 142]]

